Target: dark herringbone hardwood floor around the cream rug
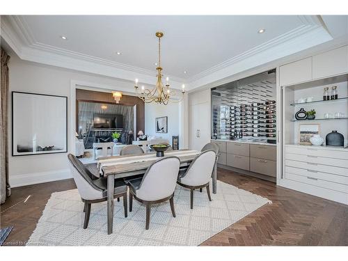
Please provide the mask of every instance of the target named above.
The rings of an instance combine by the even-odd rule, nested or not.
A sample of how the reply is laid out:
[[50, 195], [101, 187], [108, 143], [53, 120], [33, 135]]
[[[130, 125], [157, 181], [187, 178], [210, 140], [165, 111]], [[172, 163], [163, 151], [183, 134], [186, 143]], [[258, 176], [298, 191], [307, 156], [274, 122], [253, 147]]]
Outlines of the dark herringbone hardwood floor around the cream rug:
[[[219, 180], [272, 200], [202, 246], [348, 246], [348, 206], [219, 168]], [[1, 205], [1, 228], [15, 228], [7, 245], [23, 245], [35, 229], [51, 193], [74, 189], [73, 180], [19, 187]], [[29, 200], [24, 200], [31, 195]]]

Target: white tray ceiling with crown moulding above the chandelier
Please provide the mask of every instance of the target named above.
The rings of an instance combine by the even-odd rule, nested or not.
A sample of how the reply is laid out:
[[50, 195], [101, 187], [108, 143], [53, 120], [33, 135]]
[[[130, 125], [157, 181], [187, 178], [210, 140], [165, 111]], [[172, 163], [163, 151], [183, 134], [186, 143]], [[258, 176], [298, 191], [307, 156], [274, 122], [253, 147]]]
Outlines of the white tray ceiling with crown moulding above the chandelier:
[[[154, 82], [148, 76], [155, 76], [158, 30], [164, 32], [164, 74], [192, 86], [222, 68], [246, 70], [332, 39], [322, 19], [302, 15], [24, 15], [6, 20], [4, 39], [17, 46], [21, 58], [127, 80], [139, 75], [149, 84]], [[104, 67], [96, 69], [97, 64]]]

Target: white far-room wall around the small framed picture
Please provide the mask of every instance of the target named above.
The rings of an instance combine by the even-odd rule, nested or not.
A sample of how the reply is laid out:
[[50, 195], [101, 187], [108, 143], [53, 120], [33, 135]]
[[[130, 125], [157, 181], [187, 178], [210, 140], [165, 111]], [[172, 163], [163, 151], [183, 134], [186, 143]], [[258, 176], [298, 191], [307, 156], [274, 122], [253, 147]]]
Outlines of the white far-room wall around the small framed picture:
[[[163, 104], [145, 104], [145, 134], [151, 136], [159, 136], [163, 139], [168, 139], [172, 144], [172, 136], [179, 135], [179, 114], [180, 104], [171, 103], [168, 105]], [[168, 133], [156, 133], [155, 132], [155, 118], [168, 117]], [[179, 144], [181, 143], [181, 137], [179, 137]], [[180, 144], [181, 148], [181, 144]]]

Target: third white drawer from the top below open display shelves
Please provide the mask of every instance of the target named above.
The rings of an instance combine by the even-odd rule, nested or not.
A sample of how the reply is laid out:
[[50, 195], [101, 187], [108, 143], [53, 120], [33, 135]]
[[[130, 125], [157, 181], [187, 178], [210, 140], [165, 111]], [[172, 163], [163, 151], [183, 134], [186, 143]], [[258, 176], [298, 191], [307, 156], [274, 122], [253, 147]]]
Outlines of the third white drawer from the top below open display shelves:
[[318, 180], [326, 180], [330, 182], [336, 182], [336, 183], [348, 185], [348, 177], [341, 176], [341, 175], [333, 175], [333, 174], [324, 173], [320, 171], [313, 171], [310, 169], [303, 169], [303, 168], [294, 168], [290, 166], [285, 166], [285, 172], [301, 175], [305, 177], [308, 177], [308, 176], [315, 177]]

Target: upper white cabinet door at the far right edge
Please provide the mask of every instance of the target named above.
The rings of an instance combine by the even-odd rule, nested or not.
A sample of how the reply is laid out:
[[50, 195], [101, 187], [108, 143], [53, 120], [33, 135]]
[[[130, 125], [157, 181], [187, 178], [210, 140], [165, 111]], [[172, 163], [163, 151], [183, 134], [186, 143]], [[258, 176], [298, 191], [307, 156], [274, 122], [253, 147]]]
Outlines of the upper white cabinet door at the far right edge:
[[348, 72], [348, 45], [313, 56], [313, 79]]

